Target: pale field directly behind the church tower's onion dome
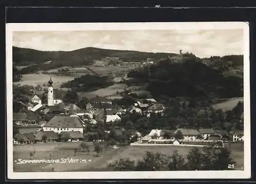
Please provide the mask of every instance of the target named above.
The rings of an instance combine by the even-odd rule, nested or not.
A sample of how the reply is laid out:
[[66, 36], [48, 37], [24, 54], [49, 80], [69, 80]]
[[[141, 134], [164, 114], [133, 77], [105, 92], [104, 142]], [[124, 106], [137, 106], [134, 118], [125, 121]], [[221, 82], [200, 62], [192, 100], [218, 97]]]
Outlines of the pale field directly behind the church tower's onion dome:
[[62, 83], [68, 82], [73, 80], [74, 76], [58, 76], [58, 75], [50, 75], [50, 74], [25, 74], [22, 77], [22, 81], [15, 82], [13, 84], [17, 85], [20, 84], [23, 85], [47, 85], [48, 81], [50, 80], [50, 77], [52, 77], [53, 86], [54, 88], [59, 88]]

